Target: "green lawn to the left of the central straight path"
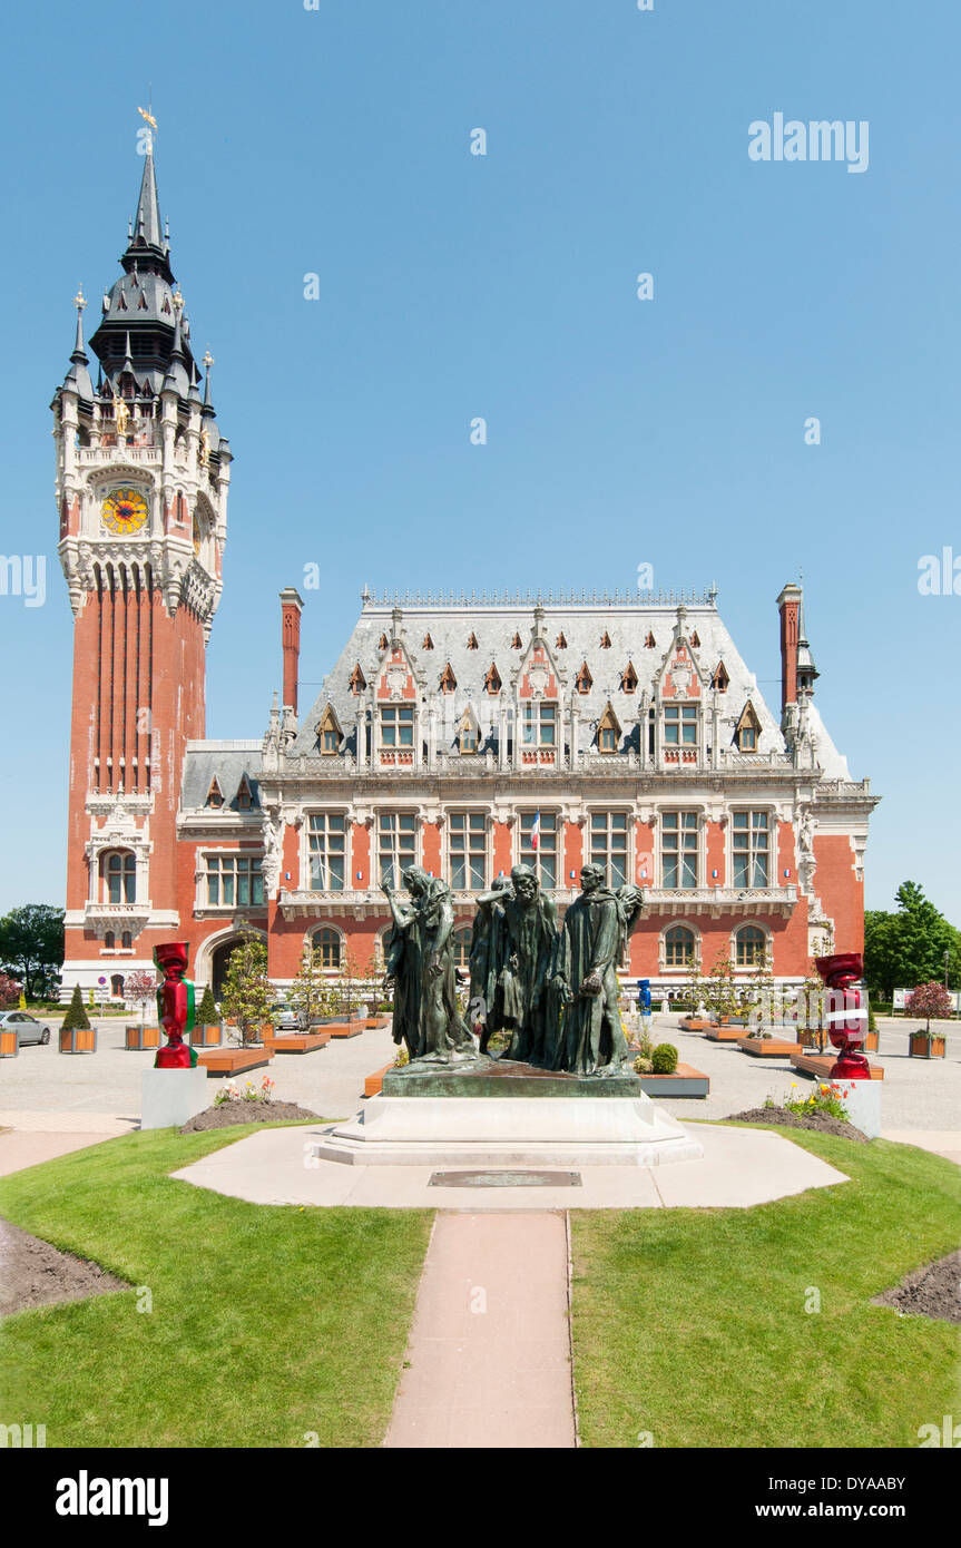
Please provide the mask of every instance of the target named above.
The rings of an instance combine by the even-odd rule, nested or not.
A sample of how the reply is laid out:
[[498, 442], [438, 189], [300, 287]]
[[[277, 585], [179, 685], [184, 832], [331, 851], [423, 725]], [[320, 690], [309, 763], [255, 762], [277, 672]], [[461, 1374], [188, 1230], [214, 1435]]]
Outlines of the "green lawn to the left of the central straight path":
[[46, 1424], [48, 1446], [382, 1443], [432, 1212], [245, 1204], [166, 1176], [260, 1127], [128, 1135], [0, 1181], [8, 1220], [153, 1299], [6, 1317], [0, 1421]]

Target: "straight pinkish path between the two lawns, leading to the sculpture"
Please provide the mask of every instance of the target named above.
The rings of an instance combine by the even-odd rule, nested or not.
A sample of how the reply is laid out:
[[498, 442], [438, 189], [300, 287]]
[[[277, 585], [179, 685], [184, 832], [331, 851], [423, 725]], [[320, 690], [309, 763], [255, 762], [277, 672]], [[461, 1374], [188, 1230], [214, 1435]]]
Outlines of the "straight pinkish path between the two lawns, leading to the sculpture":
[[384, 1444], [577, 1444], [563, 1214], [436, 1217]]

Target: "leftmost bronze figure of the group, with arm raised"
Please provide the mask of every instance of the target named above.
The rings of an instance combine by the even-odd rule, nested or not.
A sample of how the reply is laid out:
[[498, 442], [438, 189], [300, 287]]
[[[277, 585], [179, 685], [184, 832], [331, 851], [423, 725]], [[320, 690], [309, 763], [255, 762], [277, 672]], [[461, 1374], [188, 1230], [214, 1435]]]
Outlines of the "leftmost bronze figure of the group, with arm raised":
[[384, 988], [395, 988], [393, 1040], [410, 1063], [457, 1063], [477, 1057], [457, 1006], [450, 887], [419, 865], [404, 872], [409, 902], [390, 884], [382, 892], [393, 926], [384, 943]]

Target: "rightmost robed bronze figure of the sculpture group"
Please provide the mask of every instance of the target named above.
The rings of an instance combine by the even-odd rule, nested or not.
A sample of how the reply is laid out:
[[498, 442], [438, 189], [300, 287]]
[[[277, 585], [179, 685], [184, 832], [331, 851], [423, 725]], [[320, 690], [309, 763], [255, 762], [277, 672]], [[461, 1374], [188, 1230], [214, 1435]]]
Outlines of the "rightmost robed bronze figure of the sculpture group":
[[604, 870], [585, 865], [580, 896], [565, 915], [554, 988], [565, 1002], [556, 1070], [614, 1076], [630, 1054], [617, 1006], [617, 963], [641, 916], [638, 887], [605, 887]]

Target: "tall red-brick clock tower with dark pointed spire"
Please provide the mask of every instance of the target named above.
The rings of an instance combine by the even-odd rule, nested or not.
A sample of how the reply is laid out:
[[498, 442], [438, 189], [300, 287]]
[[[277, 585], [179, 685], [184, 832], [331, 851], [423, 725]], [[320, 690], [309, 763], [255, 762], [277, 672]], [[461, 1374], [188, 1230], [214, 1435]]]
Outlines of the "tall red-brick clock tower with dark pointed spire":
[[[176, 807], [204, 735], [231, 449], [203, 396], [145, 146], [122, 274], [51, 404], [60, 563], [74, 613], [63, 989], [152, 964], [176, 935]], [[186, 921], [184, 921], [186, 923]]]

